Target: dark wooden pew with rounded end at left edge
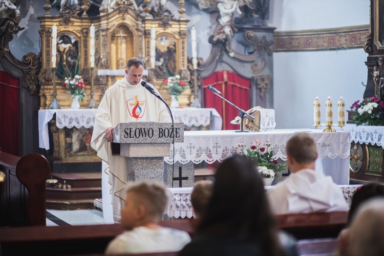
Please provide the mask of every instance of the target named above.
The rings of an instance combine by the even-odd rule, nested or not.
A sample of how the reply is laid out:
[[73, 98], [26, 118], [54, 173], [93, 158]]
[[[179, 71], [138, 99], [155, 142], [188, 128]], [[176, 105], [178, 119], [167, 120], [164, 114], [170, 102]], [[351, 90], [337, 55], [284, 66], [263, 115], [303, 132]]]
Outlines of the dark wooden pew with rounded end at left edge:
[[46, 225], [47, 159], [36, 153], [22, 157], [0, 152], [0, 226]]

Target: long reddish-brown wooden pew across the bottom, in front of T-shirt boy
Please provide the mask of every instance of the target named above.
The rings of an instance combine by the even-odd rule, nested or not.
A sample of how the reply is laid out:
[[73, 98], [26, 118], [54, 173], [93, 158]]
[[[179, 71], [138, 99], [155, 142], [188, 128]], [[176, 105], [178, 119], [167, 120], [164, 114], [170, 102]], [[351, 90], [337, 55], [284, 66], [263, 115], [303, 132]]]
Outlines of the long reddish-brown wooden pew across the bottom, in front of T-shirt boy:
[[[348, 212], [324, 212], [276, 216], [279, 227], [293, 234], [297, 240], [311, 238], [336, 238], [347, 223]], [[166, 220], [165, 227], [184, 230], [194, 235], [194, 220]], [[120, 224], [83, 226], [28, 226], [0, 228], [1, 255], [22, 254], [25, 248], [38, 255], [103, 254], [108, 243], [124, 229]], [[334, 246], [336, 242], [329, 244]], [[322, 248], [318, 243], [300, 245]], [[328, 247], [329, 247], [328, 246]], [[329, 249], [329, 248], [328, 248]], [[333, 249], [333, 247], [330, 247]], [[169, 254], [173, 255], [173, 254]], [[159, 254], [160, 256], [160, 254]], [[168, 256], [168, 254], [162, 254]]]

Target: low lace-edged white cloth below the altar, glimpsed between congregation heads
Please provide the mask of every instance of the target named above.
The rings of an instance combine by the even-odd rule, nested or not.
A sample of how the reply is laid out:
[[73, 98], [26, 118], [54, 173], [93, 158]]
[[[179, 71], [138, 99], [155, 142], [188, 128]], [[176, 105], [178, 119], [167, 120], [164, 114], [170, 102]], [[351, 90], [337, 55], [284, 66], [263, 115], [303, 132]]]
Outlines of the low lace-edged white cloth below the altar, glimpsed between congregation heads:
[[[361, 185], [338, 185], [343, 190], [343, 196], [349, 206], [351, 206], [351, 200], [356, 188]], [[266, 186], [268, 190], [272, 186]], [[167, 206], [168, 218], [188, 218], [195, 217], [192, 204], [190, 202], [190, 194], [192, 187], [172, 187], [168, 188], [172, 196], [170, 196]]]

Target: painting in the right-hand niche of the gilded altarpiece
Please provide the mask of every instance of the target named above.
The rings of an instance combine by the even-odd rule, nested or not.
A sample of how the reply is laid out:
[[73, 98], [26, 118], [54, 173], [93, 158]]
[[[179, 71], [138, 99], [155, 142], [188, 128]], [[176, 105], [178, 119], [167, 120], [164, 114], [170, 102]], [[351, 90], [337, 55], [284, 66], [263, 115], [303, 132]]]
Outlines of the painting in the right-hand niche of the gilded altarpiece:
[[176, 40], [165, 33], [156, 38], [155, 77], [164, 79], [176, 74]]

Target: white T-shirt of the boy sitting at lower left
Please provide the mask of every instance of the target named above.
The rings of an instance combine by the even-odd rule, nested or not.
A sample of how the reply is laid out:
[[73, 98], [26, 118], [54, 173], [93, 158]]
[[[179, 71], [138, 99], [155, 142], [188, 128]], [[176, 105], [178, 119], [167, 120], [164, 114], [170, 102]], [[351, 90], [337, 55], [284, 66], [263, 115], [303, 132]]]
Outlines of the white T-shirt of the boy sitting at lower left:
[[124, 231], [112, 240], [105, 254], [179, 251], [189, 242], [189, 234], [182, 230], [136, 227], [131, 231]]

